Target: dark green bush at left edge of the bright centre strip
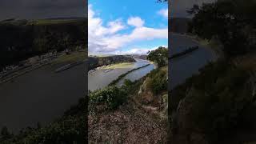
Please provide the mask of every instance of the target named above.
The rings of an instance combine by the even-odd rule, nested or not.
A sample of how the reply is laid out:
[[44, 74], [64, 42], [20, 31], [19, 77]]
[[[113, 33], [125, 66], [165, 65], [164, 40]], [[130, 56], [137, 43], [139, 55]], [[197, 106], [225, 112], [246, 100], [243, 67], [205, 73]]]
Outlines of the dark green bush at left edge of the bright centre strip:
[[106, 106], [108, 110], [115, 110], [118, 106], [126, 102], [127, 92], [123, 88], [117, 86], [107, 86], [102, 90], [95, 90], [89, 95], [89, 109], [90, 112], [94, 112], [94, 108], [97, 105]]

